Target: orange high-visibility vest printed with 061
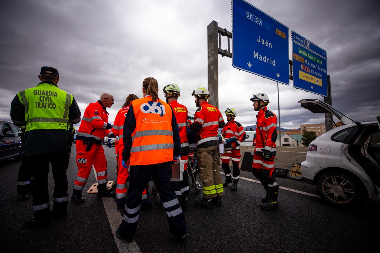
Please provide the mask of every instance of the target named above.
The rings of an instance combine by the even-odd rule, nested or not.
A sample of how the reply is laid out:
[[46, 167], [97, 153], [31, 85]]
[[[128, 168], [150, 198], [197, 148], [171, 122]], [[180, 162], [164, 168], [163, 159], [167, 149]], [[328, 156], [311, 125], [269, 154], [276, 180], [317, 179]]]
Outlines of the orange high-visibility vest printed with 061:
[[131, 106], [136, 128], [131, 134], [131, 165], [148, 165], [173, 160], [173, 129], [171, 107], [151, 96], [133, 100]]

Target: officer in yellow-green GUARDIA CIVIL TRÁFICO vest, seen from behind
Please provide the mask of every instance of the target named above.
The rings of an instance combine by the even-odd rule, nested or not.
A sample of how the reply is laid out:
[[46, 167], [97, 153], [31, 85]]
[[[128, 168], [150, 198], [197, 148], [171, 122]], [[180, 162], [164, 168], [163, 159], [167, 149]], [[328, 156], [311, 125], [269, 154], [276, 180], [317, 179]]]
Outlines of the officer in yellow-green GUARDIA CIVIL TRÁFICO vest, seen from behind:
[[[59, 73], [55, 68], [42, 67], [37, 87], [17, 93], [11, 103], [11, 119], [25, 126], [25, 150], [33, 174], [33, 217], [25, 225], [49, 226], [49, 217], [67, 217], [68, 168], [71, 146], [70, 123], [81, 119], [81, 111], [73, 95], [58, 88]], [[54, 192], [52, 212], [49, 211], [47, 178], [52, 164]]]

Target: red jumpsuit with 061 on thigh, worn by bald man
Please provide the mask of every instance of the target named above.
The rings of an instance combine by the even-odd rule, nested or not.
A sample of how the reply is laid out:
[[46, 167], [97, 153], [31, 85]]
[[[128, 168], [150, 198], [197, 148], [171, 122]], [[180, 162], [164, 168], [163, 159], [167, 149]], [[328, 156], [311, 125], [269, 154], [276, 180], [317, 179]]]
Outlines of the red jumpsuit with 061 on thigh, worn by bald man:
[[[110, 136], [112, 132], [106, 130], [108, 123], [108, 112], [98, 100], [90, 103], [79, 126], [76, 137], [76, 164], [78, 174], [75, 179], [74, 189], [83, 190], [90, 176], [92, 165], [97, 172], [98, 183], [107, 183], [107, 160], [102, 147], [104, 136]], [[92, 147], [86, 151], [86, 142], [93, 140]]]

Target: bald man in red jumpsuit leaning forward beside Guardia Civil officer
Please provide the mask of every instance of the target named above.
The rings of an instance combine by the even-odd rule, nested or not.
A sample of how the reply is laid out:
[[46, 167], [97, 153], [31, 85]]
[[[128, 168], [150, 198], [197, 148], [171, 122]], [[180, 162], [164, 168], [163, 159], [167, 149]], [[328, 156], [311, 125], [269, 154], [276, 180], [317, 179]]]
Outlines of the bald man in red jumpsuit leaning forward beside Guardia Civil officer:
[[84, 203], [82, 190], [90, 176], [92, 164], [97, 172], [98, 197], [114, 197], [115, 193], [107, 189], [107, 160], [101, 145], [104, 136], [115, 138], [109, 129], [112, 125], [108, 123], [108, 112], [114, 104], [114, 97], [109, 93], [103, 93], [100, 100], [90, 103], [82, 118], [78, 133], [76, 134], [76, 164], [78, 174], [74, 183], [73, 196], [74, 203]]

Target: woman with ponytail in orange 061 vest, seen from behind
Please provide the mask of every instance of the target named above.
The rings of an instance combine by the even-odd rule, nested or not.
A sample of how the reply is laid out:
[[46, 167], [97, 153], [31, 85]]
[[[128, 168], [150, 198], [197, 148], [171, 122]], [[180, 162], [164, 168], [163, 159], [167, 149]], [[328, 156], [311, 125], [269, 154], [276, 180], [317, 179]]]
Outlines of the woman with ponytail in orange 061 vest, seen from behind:
[[130, 159], [129, 185], [123, 220], [116, 237], [125, 243], [133, 240], [140, 214], [141, 194], [152, 177], [174, 239], [187, 234], [185, 215], [170, 185], [173, 155], [180, 157], [179, 130], [173, 109], [158, 97], [158, 83], [153, 77], [142, 82], [144, 98], [133, 100], [123, 126], [122, 163]]

